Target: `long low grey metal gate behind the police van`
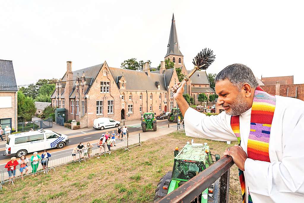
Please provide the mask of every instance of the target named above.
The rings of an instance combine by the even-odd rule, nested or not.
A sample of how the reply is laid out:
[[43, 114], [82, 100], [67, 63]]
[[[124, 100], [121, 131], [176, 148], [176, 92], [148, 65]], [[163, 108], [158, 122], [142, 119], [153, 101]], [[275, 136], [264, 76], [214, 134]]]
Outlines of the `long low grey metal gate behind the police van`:
[[45, 120], [40, 121], [27, 121], [27, 122], [19, 122], [18, 123], [18, 132], [29, 131], [31, 128], [33, 130], [38, 130], [41, 128], [52, 128], [52, 117], [48, 117]]

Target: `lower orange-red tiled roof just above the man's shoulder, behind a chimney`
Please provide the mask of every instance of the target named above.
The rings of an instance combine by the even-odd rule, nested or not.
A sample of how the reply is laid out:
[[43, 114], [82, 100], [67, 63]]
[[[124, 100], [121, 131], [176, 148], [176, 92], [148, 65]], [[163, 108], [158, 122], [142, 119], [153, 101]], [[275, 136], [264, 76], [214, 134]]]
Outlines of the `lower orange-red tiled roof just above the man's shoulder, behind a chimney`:
[[[275, 85], [261, 86], [265, 92], [275, 95]], [[280, 85], [280, 96], [288, 96], [304, 101], [304, 84]]]

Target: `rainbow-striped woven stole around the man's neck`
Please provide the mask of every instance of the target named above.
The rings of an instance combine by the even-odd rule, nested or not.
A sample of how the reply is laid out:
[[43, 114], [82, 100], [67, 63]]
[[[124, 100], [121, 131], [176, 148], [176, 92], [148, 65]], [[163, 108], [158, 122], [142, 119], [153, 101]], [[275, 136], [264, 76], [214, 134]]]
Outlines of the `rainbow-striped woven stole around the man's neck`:
[[[254, 91], [251, 109], [250, 133], [247, 143], [247, 156], [250, 159], [267, 161], [269, 159], [269, 138], [273, 115], [275, 113], [275, 96], [266, 93], [260, 86]], [[231, 128], [240, 143], [240, 116], [231, 116]], [[240, 144], [239, 144], [240, 145]], [[242, 199], [245, 203], [245, 177], [239, 169]], [[250, 193], [248, 203], [252, 203]]]

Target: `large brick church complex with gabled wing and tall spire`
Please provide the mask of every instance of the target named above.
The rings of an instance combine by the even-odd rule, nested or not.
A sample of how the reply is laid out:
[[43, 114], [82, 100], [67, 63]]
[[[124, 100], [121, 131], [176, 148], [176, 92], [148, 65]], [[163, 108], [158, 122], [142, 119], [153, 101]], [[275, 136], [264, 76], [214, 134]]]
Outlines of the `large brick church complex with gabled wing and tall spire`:
[[[166, 69], [161, 61], [158, 71], [152, 71], [149, 63], [143, 65], [143, 71], [110, 67], [106, 61], [92, 67], [72, 71], [72, 62], [67, 61], [64, 76], [56, 83], [51, 96], [52, 106], [65, 108], [67, 120], [80, 122], [81, 128], [93, 126], [98, 117], [109, 117], [116, 121], [140, 119], [144, 112], [160, 114], [176, 107], [171, 98], [171, 87], [178, 82], [176, 68], [184, 75], [187, 70], [178, 43], [174, 15], [167, 54], [174, 68]], [[185, 93], [198, 101], [198, 95], [214, 94], [209, 87], [206, 71], [195, 72], [185, 86]]]

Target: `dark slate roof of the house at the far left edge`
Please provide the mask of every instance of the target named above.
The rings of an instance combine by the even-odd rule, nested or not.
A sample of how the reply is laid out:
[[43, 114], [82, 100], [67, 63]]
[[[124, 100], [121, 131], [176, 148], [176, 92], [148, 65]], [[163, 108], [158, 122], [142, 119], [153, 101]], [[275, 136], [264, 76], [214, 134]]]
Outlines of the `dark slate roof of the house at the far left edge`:
[[0, 59], [0, 91], [18, 91], [12, 61]]

